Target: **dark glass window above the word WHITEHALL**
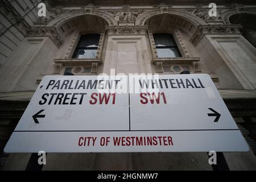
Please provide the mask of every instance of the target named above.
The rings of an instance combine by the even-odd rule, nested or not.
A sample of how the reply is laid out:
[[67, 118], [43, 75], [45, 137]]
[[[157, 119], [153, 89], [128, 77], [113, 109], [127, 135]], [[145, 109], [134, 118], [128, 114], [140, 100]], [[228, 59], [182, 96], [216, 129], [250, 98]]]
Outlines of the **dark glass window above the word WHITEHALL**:
[[181, 57], [179, 48], [171, 34], [154, 34], [158, 57]]

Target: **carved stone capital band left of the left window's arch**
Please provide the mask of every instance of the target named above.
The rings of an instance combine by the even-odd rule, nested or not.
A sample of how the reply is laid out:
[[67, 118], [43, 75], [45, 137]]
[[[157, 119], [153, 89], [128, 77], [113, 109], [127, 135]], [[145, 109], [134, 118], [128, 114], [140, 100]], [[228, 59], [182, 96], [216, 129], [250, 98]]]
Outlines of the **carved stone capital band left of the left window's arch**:
[[64, 41], [54, 27], [34, 27], [28, 32], [28, 36], [49, 36], [57, 47], [60, 47]]

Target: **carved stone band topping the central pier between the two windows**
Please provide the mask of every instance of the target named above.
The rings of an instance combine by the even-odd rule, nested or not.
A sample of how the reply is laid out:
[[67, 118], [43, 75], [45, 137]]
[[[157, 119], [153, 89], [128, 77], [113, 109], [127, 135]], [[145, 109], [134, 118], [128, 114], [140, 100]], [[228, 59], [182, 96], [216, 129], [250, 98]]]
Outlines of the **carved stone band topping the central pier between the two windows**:
[[145, 34], [146, 26], [107, 26], [106, 31], [109, 34]]

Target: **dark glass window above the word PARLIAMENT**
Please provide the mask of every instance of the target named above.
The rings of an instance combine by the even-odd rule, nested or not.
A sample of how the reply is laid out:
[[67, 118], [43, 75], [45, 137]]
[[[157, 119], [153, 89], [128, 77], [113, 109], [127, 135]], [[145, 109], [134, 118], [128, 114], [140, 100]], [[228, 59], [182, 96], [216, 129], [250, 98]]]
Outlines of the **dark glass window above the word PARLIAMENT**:
[[73, 58], [77, 59], [94, 59], [96, 58], [98, 42], [100, 35], [98, 34], [86, 34], [82, 35], [76, 50], [73, 54]]

